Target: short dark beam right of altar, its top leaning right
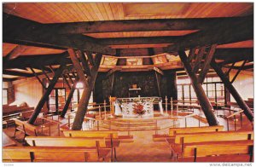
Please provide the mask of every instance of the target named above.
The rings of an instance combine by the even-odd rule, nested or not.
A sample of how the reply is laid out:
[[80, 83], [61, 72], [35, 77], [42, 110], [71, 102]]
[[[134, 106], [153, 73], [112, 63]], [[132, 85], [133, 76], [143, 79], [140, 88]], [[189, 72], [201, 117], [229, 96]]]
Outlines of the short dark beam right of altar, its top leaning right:
[[203, 83], [207, 76], [207, 72], [209, 71], [209, 68], [211, 67], [210, 63], [212, 61], [216, 46], [217, 46], [217, 44], [212, 44], [211, 49], [209, 49], [209, 51], [207, 53], [203, 67], [201, 68], [201, 72], [198, 76], [198, 83]]

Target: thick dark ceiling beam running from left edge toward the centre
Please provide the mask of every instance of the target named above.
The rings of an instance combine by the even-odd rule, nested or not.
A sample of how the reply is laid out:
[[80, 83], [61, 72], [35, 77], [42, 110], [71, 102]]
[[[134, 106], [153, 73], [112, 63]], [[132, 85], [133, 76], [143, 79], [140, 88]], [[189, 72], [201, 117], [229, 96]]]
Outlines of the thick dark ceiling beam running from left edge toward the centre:
[[97, 53], [115, 54], [102, 44], [96, 43], [93, 37], [80, 34], [59, 35], [53, 26], [46, 26], [32, 20], [3, 13], [3, 43], [26, 43], [28, 45], [43, 44], [61, 48], [88, 50]]

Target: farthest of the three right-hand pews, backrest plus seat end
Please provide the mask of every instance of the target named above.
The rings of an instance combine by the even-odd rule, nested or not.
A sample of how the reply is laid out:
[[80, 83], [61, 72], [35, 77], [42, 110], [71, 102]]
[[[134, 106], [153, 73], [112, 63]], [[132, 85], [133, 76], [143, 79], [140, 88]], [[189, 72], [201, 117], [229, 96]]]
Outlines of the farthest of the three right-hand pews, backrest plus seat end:
[[198, 132], [214, 132], [223, 131], [224, 126], [202, 126], [202, 127], [187, 127], [187, 128], [170, 128], [168, 135], [153, 135], [153, 141], [166, 141], [167, 138], [173, 138], [177, 134], [198, 133]]

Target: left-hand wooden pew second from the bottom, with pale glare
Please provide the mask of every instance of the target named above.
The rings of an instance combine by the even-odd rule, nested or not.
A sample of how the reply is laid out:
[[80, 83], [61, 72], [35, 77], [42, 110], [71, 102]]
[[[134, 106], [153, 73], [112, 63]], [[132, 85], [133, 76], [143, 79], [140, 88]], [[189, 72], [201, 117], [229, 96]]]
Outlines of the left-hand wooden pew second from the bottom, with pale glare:
[[32, 147], [87, 147], [94, 148], [103, 155], [105, 152], [110, 153], [111, 151], [111, 148], [107, 147], [104, 137], [28, 136], [25, 140]]

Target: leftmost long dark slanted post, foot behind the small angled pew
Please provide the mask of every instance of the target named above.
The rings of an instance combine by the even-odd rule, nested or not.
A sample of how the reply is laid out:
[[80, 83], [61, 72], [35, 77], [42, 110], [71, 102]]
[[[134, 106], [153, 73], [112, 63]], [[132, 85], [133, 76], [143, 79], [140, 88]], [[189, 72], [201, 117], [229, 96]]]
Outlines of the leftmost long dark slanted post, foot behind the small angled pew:
[[66, 68], [65, 65], [61, 65], [60, 68], [55, 72], [54, 78], [49, 83], [48, 88], [44, 92], [44, 95], [41, 97], [40, 101], [38, 102], [38, 106], [35, 108], [34, 112], [32, 113], [31, 118], [29, 118], [28, 123], [34, 124], [36, 119], [38, 118], [38, 114], [41, 112], [42, 107], [44, 107], [44, 103], [48, 100], [49, 94], [52, 89], [55, 88], [55, 84], [57, 83], [58, 79], [61, 77], [63, 70]]

